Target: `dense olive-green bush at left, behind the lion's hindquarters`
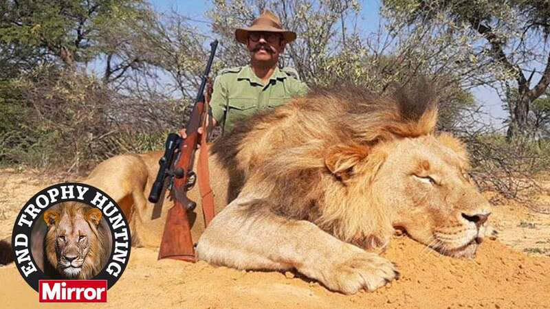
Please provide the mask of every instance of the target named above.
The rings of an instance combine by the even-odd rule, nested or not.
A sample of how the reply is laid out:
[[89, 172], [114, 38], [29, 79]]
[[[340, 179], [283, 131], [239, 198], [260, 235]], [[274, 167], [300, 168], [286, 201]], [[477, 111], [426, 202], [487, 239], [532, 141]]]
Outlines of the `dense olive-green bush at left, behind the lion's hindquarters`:
[[0, 83], [0, 165], [88, 170], [98, 161], [164, 146], [126, 102], [85, 73], [41, 67]]

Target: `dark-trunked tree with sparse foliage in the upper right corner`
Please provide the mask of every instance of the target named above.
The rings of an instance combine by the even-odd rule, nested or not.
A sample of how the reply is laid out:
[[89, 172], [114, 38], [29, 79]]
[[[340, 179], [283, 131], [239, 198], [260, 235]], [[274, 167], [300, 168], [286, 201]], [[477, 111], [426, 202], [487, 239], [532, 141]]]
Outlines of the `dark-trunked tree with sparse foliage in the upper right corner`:
[[399, 29], [443, 27], [432, 35], [452, 40], [441, 44], [468, 47], [457, 59], [463, 67], [483, 63], [478, 76], [487, 84], [496, 84], [503, 96], [517, 93], [503, 98], [509, 104], [508, 137], [532, 130], [529, 111], [550, 84], [550, 1], [385, 0], [384, 8]]

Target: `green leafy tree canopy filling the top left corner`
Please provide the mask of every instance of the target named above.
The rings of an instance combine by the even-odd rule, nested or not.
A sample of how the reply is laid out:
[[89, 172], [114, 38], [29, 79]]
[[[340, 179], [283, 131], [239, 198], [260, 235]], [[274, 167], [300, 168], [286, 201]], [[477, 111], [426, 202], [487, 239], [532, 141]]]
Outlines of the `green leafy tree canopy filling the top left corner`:
[[102, 44], [106, 34], [122, 32], [113, 25], [147, 10], [144, 0], [1, 1], [0, 65], [13, 69], [59, 60], [68, 66], [89, 62], [108, 52]]

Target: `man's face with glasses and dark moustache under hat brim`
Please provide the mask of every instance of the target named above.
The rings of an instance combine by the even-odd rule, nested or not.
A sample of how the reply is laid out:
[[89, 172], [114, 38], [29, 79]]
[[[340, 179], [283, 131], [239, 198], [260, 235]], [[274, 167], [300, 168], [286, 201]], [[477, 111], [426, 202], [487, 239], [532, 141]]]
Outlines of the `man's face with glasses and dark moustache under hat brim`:
[[279, 54], [285, 49], [283, 35], [276, 32], [250, 32], [248, 34], [248, 51], [256, 63], [274, 66]]

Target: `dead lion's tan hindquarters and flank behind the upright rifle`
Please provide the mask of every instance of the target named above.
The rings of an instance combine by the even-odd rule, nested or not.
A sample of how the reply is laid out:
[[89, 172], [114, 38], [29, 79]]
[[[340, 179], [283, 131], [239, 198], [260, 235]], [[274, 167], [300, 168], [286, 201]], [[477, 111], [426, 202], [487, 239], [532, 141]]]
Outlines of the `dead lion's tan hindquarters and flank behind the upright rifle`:
[[[158, 205], [147, 201], [151, 186], [158, 171], [158, 161], [163, 152], [148, 152], [142, 155], [120, 155], [103, 161], [94, 169], [84, 183], [98, 187], [117, 201], [126, 218], [129, 218], [132, 244], [137, 247], [159, 247], [164, 231], [168, 209], [172, 207], [170, 198], [161, 199]], [[210, 179], [216, 212], [228, 204], [228, 174], [217, 157], [210, 157]], [[113, 187], [113, 184], [120, 184]], [[204, 231], [201, 199], [198, 186], [188, 196], [197, 201], [197, 209], [190, 214], [192, 236], [195, 241]]]

